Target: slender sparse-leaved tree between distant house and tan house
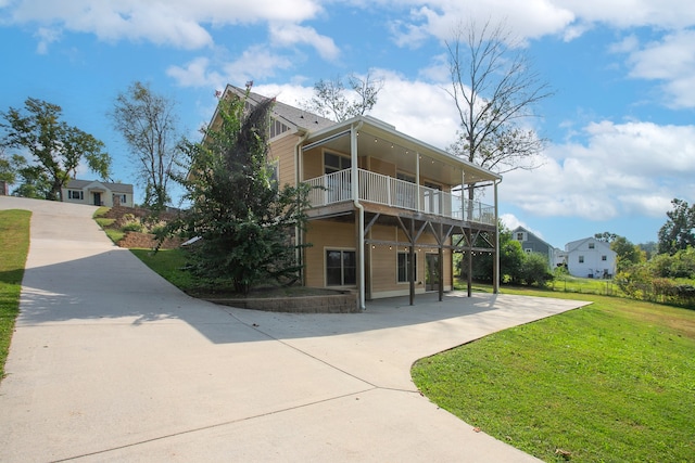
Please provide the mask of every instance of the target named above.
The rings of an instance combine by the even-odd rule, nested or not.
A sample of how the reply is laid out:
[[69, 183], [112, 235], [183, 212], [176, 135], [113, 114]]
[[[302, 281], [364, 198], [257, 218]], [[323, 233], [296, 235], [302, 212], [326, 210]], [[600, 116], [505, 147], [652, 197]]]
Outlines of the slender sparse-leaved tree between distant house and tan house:
[[175, 108], [175, 101], [136, 81], [118, 93], [111, 113], [144, 187], [144, 203], [155, 210], [170, 202], [168, 181], [177, 158], [182, 156]]

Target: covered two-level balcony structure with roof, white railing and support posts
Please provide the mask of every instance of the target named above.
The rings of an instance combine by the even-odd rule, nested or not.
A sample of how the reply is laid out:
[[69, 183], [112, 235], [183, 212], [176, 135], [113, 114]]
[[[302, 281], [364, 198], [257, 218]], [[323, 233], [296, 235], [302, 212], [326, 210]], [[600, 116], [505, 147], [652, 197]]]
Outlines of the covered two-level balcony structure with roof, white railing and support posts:
[[[496, 203], [502, 178], [494, 172], [369, 116], [311, 132], [298, 144], [296, 156], [298, 181], [314, 187], [309, 218], [354, 222], [363, 308], [368, 290], [367, 250], [374, 246], [399, 246], [412, 255], [421, 248], [439, 252], [440, 266], [445, 252], [470, 256], [478, 249], [497, 256]], [[493, 204], [469, 200], [473, 188], [491, 192]], [[376, 224], [397, 228], [399, 237], [375, 240], [370, 230]], [[425, 234], [434, 242], [419, 241]], [[483, 243], [482, 249], [479, 243]], [[495, 273], [496, 291], [498, 266]], [[410, 303], [414, 286], [410, 281]], [[439, 291], [442, 297], [443, 284]]]

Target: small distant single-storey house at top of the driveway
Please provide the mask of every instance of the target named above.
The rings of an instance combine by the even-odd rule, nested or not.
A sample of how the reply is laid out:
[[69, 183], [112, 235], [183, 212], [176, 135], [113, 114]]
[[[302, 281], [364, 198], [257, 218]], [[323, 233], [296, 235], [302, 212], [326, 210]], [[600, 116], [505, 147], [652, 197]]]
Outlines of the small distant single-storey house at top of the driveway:
[[132, 207], [132, 185], [106, 183], [97, 180], [71, 180], [62, 188], [64, 203], [89, 204], [93, 206]]

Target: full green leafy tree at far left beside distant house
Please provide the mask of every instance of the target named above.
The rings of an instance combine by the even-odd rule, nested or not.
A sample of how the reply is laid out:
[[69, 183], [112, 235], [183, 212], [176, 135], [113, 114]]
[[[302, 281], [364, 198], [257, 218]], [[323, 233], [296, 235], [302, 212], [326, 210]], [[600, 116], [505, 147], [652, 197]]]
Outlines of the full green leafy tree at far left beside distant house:
[[[83, 160], [102, 180], [109, 178], [111, 156], [103, 151], [104, 144], [61, 120], [59, 105], [28, 98], [24, 111], [10, 107], [0, 114], [5, 120], [0, 124], [4, 129], [2, 146], [28, 152], [31, 159], [27, 160], [33, 164], [24, 166], [26, 175], [20, 171], [20, 176], [25, 182], [38, 182], [42, 187], [38, 191], [46, 200], [62, 201], [61, 189], [75, 177]], [[23, 183], [20, 192], [23, 187], [35, 191], [30, 184]]]

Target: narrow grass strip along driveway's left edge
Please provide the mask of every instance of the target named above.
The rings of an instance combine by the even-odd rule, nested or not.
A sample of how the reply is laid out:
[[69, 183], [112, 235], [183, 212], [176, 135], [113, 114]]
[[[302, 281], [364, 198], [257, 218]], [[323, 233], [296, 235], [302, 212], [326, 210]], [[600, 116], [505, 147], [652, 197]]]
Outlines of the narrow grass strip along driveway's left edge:
[[20, 312], [30, 218], [28, 210], [0, 210], [0, 380], [4, 377], [4, 362]]

